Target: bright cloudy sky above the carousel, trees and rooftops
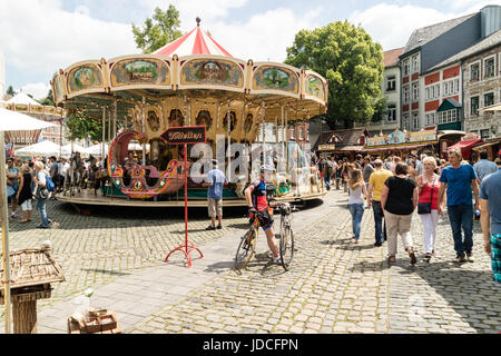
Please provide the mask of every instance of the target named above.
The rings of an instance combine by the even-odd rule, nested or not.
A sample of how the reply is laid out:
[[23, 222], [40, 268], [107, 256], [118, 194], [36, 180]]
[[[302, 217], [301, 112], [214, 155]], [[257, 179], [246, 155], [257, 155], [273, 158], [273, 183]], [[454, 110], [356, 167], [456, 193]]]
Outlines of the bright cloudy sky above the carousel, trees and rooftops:
[[[47, 96], [60, 68], [89, 59], [140, 53], [131, 23], [156, 7], [179, 10], [180, 29], [200, 27], [234, 57], [282, 62], [302, 29], [347, 20], [384, 50], [404, 47], [412, 31], [479, 11], [499, 0], [0, 0], [0, 53], [6, 83]], [[0, 56], [1, 58], [1, 56]]]

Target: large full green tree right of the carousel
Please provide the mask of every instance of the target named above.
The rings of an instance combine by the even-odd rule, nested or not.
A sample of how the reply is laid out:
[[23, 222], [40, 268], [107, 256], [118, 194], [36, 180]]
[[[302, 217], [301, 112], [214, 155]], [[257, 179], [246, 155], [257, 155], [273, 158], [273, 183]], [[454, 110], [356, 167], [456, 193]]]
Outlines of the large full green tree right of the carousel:
[[347, 21], [301, 30], [287, 48], [286, 63], [306, 67], [328, 80], [326, 120], [331, 128], [381, 116], [383, 50], [361, 27]]

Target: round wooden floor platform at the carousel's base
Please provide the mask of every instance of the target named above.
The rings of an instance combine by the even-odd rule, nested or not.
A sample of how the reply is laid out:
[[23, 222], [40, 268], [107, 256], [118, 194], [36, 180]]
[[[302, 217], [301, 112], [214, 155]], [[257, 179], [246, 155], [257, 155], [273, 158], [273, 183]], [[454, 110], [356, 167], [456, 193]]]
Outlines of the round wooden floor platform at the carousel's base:
[[[324, 192], [313, 192], [308, 195], [294, 195], [288, 194], [282, 197], [277, 197], [277, 201], [294, 201], [297, 198], [303, 200], [321, 199]], [[120, 206], [120, 207], [137, 207], [137, 208], [167, 208], [167, 207], [184, 207], [185, 200], [179, 197], [178, 200], [143, 200], [143, 199], [127, 199], [125, 197], [109, 197], [94, 194], [94, 189], [84, 189], [81, 192], [75, 192], [72, 196], [69, 194], [57, 194], [57, 200], [71, 204], [77, 210], [78, 206]], [[207, 198], [189, 198], [189, 207], [207, 207]], [[224, 198], [224, 207], [239, 207], [247, 206], [245, 199], [242, 198]]]

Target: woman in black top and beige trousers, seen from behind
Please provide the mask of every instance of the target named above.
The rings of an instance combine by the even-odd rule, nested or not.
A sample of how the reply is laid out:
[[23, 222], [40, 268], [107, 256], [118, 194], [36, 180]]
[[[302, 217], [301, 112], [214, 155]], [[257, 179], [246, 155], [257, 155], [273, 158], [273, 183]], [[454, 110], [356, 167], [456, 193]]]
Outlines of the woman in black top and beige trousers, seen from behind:
[[418, 260], [412, 246], [411, 221], [412, 214], [418, 206], [419, 192], [414, 179], [407, 177], [407, 165], [396, 164], [395, 175], [389, 177], [384, 182], [381, 207], [386, 221], [389, 261], [395, 261], [397, 236], [400, 235], [411, 265], [414, 265]]

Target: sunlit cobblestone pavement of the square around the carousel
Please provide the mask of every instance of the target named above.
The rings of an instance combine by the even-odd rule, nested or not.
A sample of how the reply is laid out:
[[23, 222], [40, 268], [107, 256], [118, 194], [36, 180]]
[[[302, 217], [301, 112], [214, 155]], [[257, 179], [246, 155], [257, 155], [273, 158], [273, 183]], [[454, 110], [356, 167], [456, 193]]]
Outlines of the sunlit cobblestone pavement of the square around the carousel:
[[397, 260], [389, 266], [386, 246], [373, 246], [371, 210], [365, 210], [360, 244], [351, 243], [346, 204], [346, 194], [334, 190], [323, 204], [294, 214], [297, 251], [287, 273], [271, 264], [263, 234], [247, 269], [232, 269], [247, 228], [242, 209], [225, 210], [224, 229], [215, 231], [205, 231], [205, 210], [190, 210], [189, 237], [204, 258], [195, 258], [189, 269], [183, 254], [163, 261], [184, 238], [181, 209], [100, 208], [79, 216], [55, 201], [49, 216], [60, 229], [36, 229], [33, 214], [32, 225], [10, 225], [10, 244], [14, 250], [50, 239], [65, 271], [67, 281], [53, 285], [52, 298], [39, 300], [40, 333], [65, 333], [71, 301], [88, 287], [96, 290], [94, 305], [116, 310], [125, 332], [136, 334], [501, 330], [501, 289], [492, 281], [479, 224], [474, 263], [458, 265], [442, 217], [438, 256], [426, 265], [415, 215], [418, 265], [409, 264], [399, 241]]

